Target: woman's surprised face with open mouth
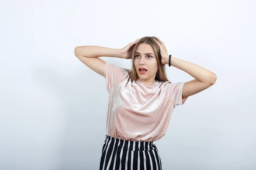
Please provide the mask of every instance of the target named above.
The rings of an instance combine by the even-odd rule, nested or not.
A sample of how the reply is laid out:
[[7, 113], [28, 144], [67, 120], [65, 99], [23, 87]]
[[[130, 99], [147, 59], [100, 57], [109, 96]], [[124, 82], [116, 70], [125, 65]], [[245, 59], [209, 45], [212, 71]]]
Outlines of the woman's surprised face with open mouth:
[[[157, 59], [151, 45], [142, 43], [137, 46], [134, 65], [140, 81], [146, 83], [154, 82], [157, 74]], [[140, 68], [145, 68], [146, 71], [140, 70]]]

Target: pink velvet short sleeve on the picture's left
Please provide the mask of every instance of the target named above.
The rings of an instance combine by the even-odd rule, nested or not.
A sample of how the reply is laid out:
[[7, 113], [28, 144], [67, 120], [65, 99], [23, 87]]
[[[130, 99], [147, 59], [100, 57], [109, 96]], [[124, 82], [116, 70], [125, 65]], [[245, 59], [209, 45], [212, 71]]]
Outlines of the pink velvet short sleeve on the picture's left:
[[120, 68], [108, 62], [105, 63], [104, 74], [108, 91], [128, 76], [128, 72], [124, 68]]

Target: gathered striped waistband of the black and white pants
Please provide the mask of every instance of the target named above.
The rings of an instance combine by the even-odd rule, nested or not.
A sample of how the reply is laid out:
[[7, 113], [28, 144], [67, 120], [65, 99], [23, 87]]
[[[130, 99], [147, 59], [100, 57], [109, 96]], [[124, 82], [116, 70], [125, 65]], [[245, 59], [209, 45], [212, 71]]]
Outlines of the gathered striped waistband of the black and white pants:
[[132, 151], [157, 149], [156, 145], [153, 144], [153, 141], [151, 142], [128, 141], [123, 139], [117, 139], [108, 135], [106, 135], [105, 137], [104, 144], [111, 147], [116, 147], [116, 148], [122, 147], [125, 150], [132, 150]]

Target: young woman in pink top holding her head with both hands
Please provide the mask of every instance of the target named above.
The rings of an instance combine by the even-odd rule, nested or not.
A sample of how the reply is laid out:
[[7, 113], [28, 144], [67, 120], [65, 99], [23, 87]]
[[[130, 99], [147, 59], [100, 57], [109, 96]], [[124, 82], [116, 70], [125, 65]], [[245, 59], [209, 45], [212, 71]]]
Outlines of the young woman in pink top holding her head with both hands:
[[[106, 79], [108, 90], [107, 134], [100, 170], [161, 170], [154, 141], [162, 138], [177, 105], [216, 81], [216, 75], [167, 53], [157, 37], [143, 37], [122, 49], [79, 46], [75, 55]], [[132, 59], [131, 70], [99, 57]], [[170, 82], [165, 65], [194, 77], [189, 82]]]

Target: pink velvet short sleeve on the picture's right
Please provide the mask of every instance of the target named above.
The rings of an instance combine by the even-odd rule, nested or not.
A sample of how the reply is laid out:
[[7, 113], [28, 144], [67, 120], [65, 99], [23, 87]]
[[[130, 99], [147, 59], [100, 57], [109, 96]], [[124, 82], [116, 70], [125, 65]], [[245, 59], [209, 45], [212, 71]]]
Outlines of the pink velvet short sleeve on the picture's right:
[[182, 89], [185, 82], [169, 83], [169, 93], [174, 108], [177, 105], [183, 105], [188, 97], [182, 97]]

